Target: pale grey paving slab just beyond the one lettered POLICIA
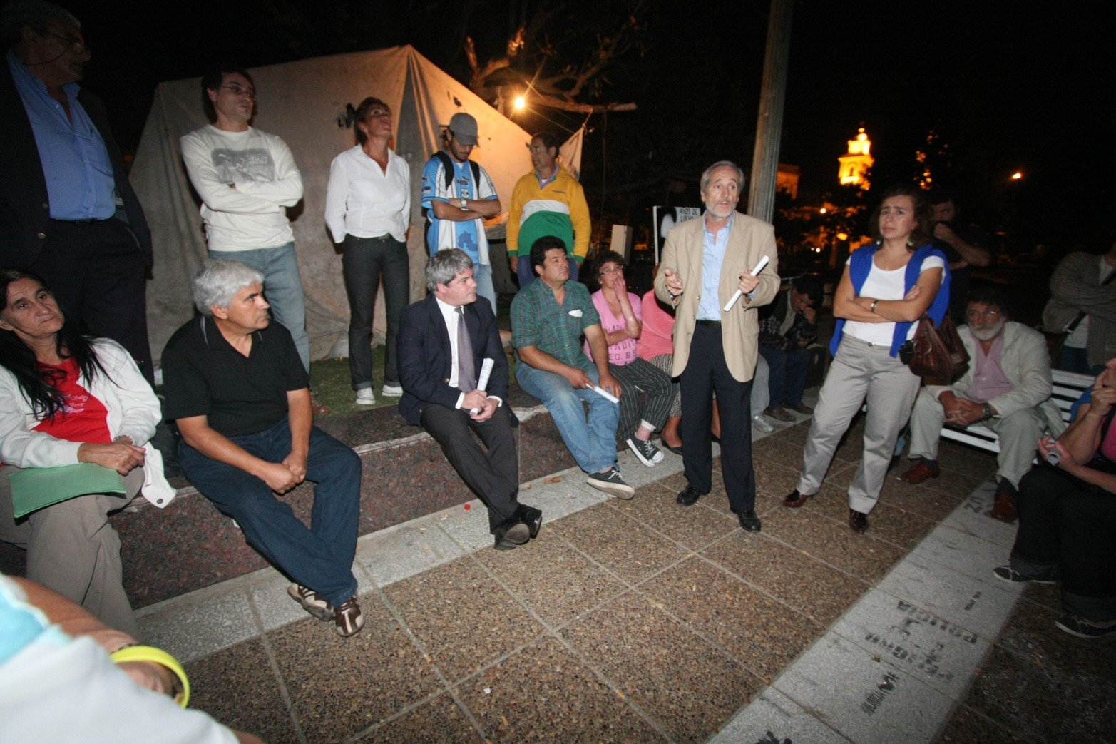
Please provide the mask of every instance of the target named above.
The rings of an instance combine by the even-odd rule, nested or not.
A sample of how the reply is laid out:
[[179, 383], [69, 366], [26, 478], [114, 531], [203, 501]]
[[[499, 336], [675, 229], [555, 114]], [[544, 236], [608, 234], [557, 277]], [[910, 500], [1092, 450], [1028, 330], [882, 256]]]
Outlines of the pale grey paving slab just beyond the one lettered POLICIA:
[[899, 561], [878, 589], [991, 640], [1019, 598], [1018, 591], [1001, 583], [991, 576], [973, 579], [913, 553]]

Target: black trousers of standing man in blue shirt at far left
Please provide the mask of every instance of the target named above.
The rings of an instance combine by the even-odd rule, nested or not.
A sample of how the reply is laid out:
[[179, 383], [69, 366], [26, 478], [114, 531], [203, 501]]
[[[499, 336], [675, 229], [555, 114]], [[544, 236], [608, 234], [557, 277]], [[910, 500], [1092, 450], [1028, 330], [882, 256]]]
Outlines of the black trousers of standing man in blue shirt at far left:
[[42, 252], [27, 267], [41, 276], [66, 317], [124, 346], [154, 383], [147, 342], [147, 259], [117, 219], [85, 225], [50, 220]]

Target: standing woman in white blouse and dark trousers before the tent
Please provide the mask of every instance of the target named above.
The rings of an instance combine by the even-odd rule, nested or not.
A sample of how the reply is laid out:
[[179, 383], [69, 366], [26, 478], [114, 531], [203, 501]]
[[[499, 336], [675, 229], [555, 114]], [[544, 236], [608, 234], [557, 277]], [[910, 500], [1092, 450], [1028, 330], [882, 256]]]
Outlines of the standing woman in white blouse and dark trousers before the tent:
[[326, 226], [341, 244], [341, 270], [349, 301], [349, 376], [356, 402], [376, 402], [372, 375], [372, 315], [384, 280], [387, 338], [383, 394], [403, 394], [395, 341], [407, 305], [411, 271], [406, 232], [411, 225], [411, 166], [387, 146], [392, 109], [368, 97], [356, 108], [357, 145], [334, 159], [326, 189]]

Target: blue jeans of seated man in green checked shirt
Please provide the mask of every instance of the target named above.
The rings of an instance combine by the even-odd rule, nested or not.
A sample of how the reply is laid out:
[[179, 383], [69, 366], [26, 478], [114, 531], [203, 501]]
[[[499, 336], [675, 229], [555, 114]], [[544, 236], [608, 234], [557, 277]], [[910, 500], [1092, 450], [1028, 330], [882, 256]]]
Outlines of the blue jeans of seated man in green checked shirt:
[[[585, 372], [593, 384], [599, 384], [597, 368], [590, 366]], [[529, 364], [516, 366], [516, 380], [520, 388], [541, 400], [550, 411], [550, 418], [579, 468], [586, 473], [600, 473], [616, 465], [619, 406], [591, 390], [575, 390], [560, 374], [537, 370]], [[581, 401], [589, 404], [588, 421]]]

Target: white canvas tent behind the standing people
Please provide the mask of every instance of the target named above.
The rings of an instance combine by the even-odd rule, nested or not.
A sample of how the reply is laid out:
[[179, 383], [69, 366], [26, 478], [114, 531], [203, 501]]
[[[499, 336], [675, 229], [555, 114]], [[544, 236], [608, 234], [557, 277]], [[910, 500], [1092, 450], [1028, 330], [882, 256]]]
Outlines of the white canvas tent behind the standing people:
[[[348, 326], [340, 255], [323, 219], [329, 164], [337, 153], [356, 142], [352, 128], [338, 125], [346, 104], [356, 106], [374, 95], [396, 114], [393, 146], [411, 164], [412, 220], [407, 248], [412, 299], [425, 293], [422, 280], [426, 265], [425, 221], [419, 189], [423, 165], [441, 146], [439, 125], [448, 123], [459, 111], [477, 117], [481, 146], [473, 151], [473, 159], [491, 175], [504, 208], [511, 200], [516, 180], [530, 170], [525, 147], [530, 135], [410, 46], [250, 71], [260, 95], [252, 124], [281, 136], [302, 173], [305, 195], [297, 207], [288, 210], [288, 216], [302, 274], [312, 359], [327, 355], [334, 343], [345, 337]], [[147, 317], [156, 360], [171, 334], [193, 314], [190, 277], [206, 255], [198, 197], [190, 187], [179, 150], [179, 139], [205, 123], [200, 78], [161, 83], [132, 168], [132, 184], [143, 202], [154, 240], [154, 280], [147, 290]], [[575, 135], [568, 144], [578, 145], [570, 149], [573, 160], [565, 160], [576, 169], [580, 165], [580, 137]], [[502, 227], [499, 233], [502, 235]], [[500, 259], [501, 256], [493, 255], [493, 263]], [[375, 331], [383, 337], [383, 293], [377, 305]]]

